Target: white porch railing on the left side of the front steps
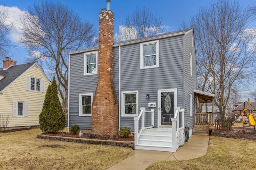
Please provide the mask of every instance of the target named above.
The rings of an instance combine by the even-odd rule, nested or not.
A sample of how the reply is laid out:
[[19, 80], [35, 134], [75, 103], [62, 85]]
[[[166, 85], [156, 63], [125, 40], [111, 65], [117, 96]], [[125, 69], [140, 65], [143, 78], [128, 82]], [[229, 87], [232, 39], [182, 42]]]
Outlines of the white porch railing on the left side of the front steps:
[[145, 107], [140, 108], [138, 117], [134, 117], [134, 144], [139, 143], [140, 134], [143, 129], [154, 127], [154, 109], [146, 111]]

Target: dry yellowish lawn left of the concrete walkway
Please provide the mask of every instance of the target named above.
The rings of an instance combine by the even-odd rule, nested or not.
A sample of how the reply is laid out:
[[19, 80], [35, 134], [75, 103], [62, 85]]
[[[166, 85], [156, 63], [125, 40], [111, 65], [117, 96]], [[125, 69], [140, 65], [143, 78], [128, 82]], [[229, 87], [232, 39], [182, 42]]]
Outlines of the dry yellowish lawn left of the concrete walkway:
[[105, 170], [132, 149], [37, 139], [40, 129], [0, 133], [0, 169]]

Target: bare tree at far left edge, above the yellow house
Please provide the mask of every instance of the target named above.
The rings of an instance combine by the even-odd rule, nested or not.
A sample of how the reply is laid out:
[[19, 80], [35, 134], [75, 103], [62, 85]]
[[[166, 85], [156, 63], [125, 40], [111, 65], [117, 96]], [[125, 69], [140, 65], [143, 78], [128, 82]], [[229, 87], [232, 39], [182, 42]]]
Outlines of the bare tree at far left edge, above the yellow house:
[[4, 57], [9, 57], [10, 47], [13, 46], [9, 39], [13, 22], [8, 20], [8, 8], [0, 6], [0, 63]]

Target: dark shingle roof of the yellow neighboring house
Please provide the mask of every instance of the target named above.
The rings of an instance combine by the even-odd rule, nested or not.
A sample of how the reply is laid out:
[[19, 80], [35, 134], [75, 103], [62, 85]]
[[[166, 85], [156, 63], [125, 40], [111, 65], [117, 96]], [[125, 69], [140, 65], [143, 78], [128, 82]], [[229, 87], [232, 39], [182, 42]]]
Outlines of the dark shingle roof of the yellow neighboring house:
[[[34, 62], [36, 63], [36, 62]], [[0, 76], [4, 76], [2, 80], [0, 80], [0, 92], [6, 88], [10, 83], [13, 82], [18, 76], [20, 76], [22, 73], [24, 73], [30, 66], [32, 66], [34, 63], [27, 63], [27, 64], [20, 64], [16, 66], [11, 66], [7, 70], [3, 70], [3, 68], [0, 68]]]

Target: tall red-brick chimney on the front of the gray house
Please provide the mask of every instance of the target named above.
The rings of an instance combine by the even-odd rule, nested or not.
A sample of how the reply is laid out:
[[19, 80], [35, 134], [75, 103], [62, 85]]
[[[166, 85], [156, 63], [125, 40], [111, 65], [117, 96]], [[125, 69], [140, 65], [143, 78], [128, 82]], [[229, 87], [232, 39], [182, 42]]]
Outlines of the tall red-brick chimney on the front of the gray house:
[[92, 133], [118, 134], [118, 101], [113, 82], [114, 14], [99, 14], [98, 84], [92, 103]]

